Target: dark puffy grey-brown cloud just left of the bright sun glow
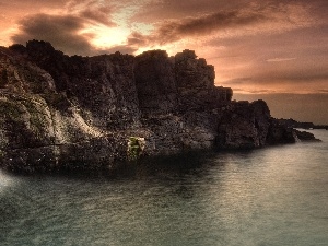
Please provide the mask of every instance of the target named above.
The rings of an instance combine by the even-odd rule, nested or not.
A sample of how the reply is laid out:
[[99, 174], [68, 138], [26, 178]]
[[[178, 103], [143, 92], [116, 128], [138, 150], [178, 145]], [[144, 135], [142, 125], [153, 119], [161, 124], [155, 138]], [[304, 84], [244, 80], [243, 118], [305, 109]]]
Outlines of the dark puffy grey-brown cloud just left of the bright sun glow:
[[90, 55], [93, 47], [87, 37], [79, 34], [83, 27], [84, 20], [78, 16], [36, 14], [21, 20], [20, 33], [13, 35], [12, 40], [25, 44], [30, 39], [40, 39], [69, 55]]

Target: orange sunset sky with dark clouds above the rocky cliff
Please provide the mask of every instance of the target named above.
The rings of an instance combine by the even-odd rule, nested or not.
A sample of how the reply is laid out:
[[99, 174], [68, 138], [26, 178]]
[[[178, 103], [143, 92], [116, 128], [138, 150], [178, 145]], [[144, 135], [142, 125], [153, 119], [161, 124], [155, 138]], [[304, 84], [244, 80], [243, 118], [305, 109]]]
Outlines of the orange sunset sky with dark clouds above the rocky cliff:
[[83, 56], [192, 49], [235, 99], [267, 98], [277, 118], [328, 124], [327, 0], [0, 0], [0, 9], [1, 46], [42, 39]]

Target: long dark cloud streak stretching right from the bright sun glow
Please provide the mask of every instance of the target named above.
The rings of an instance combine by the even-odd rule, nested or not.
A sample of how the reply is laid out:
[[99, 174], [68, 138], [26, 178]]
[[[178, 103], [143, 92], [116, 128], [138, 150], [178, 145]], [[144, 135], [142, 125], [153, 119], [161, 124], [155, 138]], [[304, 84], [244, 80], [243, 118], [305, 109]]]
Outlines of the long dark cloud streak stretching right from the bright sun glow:
[[155, 28], [150, 35], [138, 34], [138, 42], [143, 45], [165, 45], [189, 37], [231, 38], [276, 34], [312, 26], [315, 22], [316, 20], [309, 15], [306, 5], [274, 2], [253, 3], [244, 5], [244, 8], [219, 10], [194, 17], [156, 22]]

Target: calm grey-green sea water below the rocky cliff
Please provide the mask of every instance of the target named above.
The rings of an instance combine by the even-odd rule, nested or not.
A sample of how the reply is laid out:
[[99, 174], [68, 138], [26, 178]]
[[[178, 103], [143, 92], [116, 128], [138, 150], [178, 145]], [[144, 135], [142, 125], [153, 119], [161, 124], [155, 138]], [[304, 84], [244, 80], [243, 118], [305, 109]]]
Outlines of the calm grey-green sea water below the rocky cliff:
[[313, 132], [324, 142], [115, 175], [1, 172], [0, 245], [326, 246], [328, 131]]

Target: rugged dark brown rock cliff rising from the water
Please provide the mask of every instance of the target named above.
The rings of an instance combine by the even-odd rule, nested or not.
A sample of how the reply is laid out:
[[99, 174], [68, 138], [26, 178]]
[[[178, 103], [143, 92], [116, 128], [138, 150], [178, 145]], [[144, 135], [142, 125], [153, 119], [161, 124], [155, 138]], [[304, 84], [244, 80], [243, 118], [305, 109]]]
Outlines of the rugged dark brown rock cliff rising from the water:
[[231, 102], [232, 90], [214, 86], [214, 75], [191, 50], [68, 57], [45, 42], [1, 47], [1, 166], [98, 167], [141, 154], [285, 142], [265, 102]]

